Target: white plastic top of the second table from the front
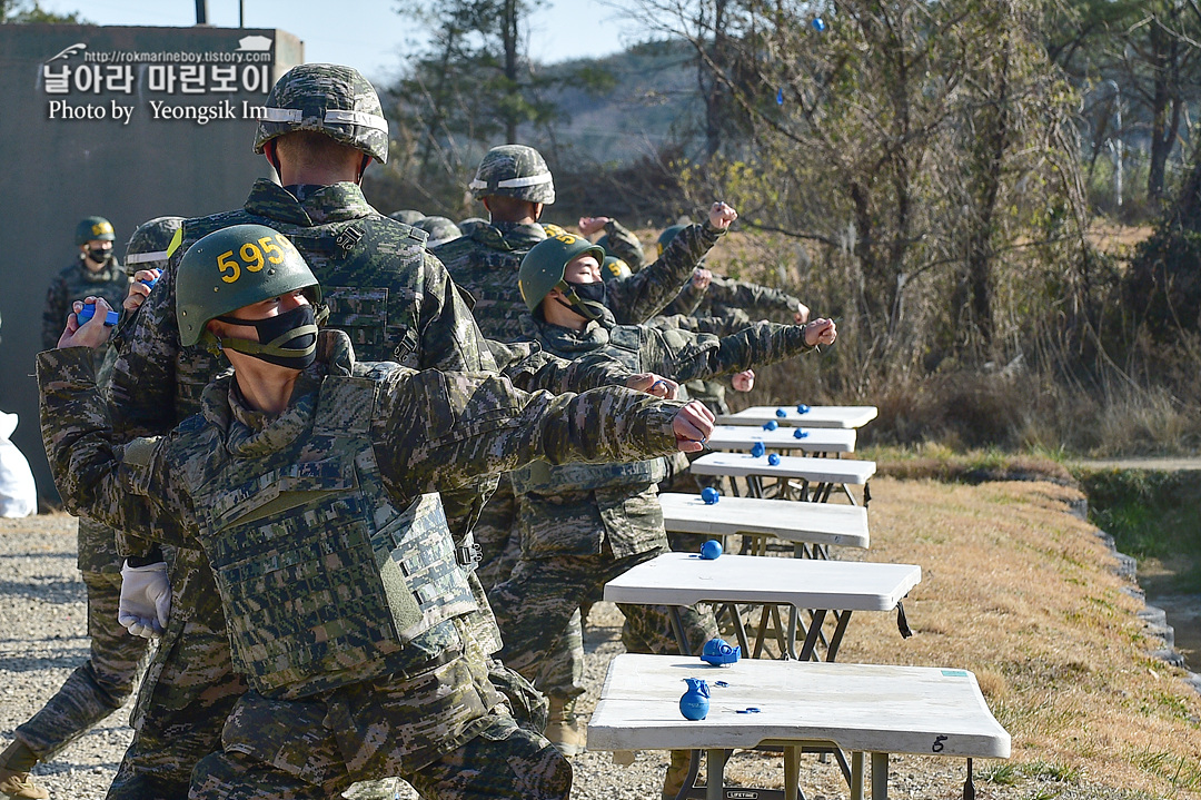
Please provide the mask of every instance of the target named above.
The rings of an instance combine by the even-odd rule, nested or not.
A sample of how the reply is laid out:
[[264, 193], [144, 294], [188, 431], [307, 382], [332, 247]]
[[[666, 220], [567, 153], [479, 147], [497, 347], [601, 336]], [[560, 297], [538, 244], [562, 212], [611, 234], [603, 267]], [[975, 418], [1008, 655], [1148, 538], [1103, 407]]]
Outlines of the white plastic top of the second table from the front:
[[888, 611], [919, 583], [921, 567], [912, 563], [740, 555], [706, 561], [691, 553], [664, 553], [605, 584], [604, 599], [646, 605], [710, 601]]

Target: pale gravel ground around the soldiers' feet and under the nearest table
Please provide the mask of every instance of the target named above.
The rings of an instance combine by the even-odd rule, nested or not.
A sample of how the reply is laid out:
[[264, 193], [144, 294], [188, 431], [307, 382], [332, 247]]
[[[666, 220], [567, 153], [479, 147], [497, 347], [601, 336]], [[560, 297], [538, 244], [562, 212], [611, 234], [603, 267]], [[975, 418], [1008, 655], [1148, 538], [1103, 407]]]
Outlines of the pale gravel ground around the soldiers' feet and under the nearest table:
[[[88, 656], [84, 585], [76, 569], [74, 520], [64, 514], [23, 520], [0, 519], [0, 747], [61, 686]], [[587, 694], [579, 704], [587, 712], [596, 705], [609, 661], [623, 651], [621, 614], [609, 603], [598, 603], [585, 629], [587, 646]], [[121, 754], [130, 741], [129, 709], [121, 710], [67, 747], [58, 758], [35, 769], [37, 781], [55, 799], [103, 798]], [[782, 788], [779, 757], [739, 752], [727, 775], [731, 782]], [[584, 800], [655, 800], [659, 796], [667, 754], [638, 753], [632, 766], [617, 766], [609, 753], [588, 752], [573, 759], [574, 798]], [[704, 768], [703, 768], [704, 769]], [[1111, 789], [1054, 784], [1050, 794], [1038, 794], [1029, 781], [1003, 787], [982, 780], [988, 764], [978, 765], [976, 796], [1058, 796], [1117, 799]], [[891, 765], [890, 793], [897, 799], [961, 796], [966, 771], [960, 760], [898, 757]], [[809, 800], [846, 798], [847, 786], [836, 764], [802, 759], [801, 786]], [[1032, 795], [1032, 788], [1035, 794]], [[359, 798], [416, 796], [406, 786], [387, 792], [362, 790]]]

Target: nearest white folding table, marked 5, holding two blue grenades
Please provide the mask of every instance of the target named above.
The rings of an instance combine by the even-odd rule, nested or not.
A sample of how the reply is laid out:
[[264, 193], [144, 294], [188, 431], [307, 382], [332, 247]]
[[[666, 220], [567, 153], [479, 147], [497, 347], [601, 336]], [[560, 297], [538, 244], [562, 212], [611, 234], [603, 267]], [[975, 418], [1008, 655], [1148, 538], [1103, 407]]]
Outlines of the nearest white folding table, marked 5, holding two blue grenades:
[[[680, 714], [685, 677], [709, 682], [705, 720], [689, 721]], [[718, 680], [727, 686], [717, 686]], [[724, 784], [729, 751], [760, 745], [783, 748], [784, 790], [728, 793], [737, 792]], [[974, 794], [970, 759], [1010, 753], [1009, 734], [967, 670], [755, 659], [716, 668], [699, 658], [631, 653], [609, 665], [600, 703], [588, 722], [587, 746], [694, 751], [689, 778], [677, 795], [681, 800], [796, 800], [802, 748], [831, 746], [852, 753], [853, 800], [864, 798], [865, 753], [871, 753], [872, 800], [888, 799], [891, 753], [969, 759], [963, 787], [968, 796], [969, 789]], [[709, 753], [709, 780], [704, 789], [693, 789], [701, 750]]]

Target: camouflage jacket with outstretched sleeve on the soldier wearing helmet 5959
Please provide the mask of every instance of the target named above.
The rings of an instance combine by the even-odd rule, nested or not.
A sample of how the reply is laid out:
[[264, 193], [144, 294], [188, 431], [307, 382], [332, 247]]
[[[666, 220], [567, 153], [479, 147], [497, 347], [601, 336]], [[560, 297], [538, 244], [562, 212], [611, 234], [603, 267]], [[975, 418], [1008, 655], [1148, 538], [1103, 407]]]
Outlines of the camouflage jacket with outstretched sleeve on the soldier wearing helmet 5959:
[[[325, 332], [322, 339], [321, 358], [300, 375], [288, 407], [280, 414], [249, 408], [231, 370], [205, 389], [199, 414], [166, 436], [127, 444], [116, 443], [113, 435], [108, 406], [96, 392], [90, 352], [68, 348], [38, 354], [42, 437], [64, 503], [72, 512], [86, 511], [104, 524], [166, 544], [201, 547], [226, 581], [233, 578], [219, 565], [237, 571], [239, 565], [251, 563], [237, 556], [253, 556], [271, 545], [270, 538], [262, 538], [267, 536], [263, 531], [231, 541], [222, 526], [241, 524], [231, 520], [247, 515], [273, 519], [270, 514], [275, 514], [273, 531], [285, 532], [288, 539], [313, 539], [327, 553], [327, 557], [304, 562], [305, 569], [316, 573], [300, 583], [335, 585], [347, 575], [371, 580], [371, 571], [386, 565], [376, 565], [370, 548], [365, 555], [347, 555], [354, 542], [343, 530], [342, 514], [304, 511], [309, 501], [303, 495], [325, 491], [318, 479], [353, 489], [370, 479], [364, 465], [374, 461], [375, 474], [392, 506], [404, 509], [428, 492], [464, 486], [478, 476], [510, 470], [534, 458], [557, 464], [675, 452], [671, 420], [677, 402], [622, 388], [580, 395], [526, 394], [495, 374], [418, 372], [394, 363], [355, 364], [346, 334]], [[345, 411], [343, 406], [321, 401], [327, 392], [339, 392], [347, 383], [360, 389], [365, 384], [374, 400], [347, 404]], [[360, 392], [357, 396], [364, 395]], [[318, 420], [319, 408], [325, 412]], [[366, 452], [351, 461], [349, 474], [331, 472], [327, 456], [335, 450], [339, 437], [351, 435], [366, 440]], [[238, 466], [232, 473], [238, 476], [237, 485], [225, 486], [221, 478], [231, 474], [231, 464]], [[366, 471], [360, 474], [360, 470]], [[245, 502], [245, 490], [262, 494], [273, 488], [276, 491], [270, 496], [276, 500], [267, 507]], [[293, 507], [295, 513], [289, 514]], [[343, 512], [352, 514], [353, 509]], [[316, 535], [313, 526], [321, 529]], [[387, 542], [375, 541], [383, 530], [387, 526], [372, 535], [371, 545], [384, 547], [387, 561]], [[281, 556], [279, 568], [287, 568], [285, 561]], [[419, 566], [407, 565], [405, 574]], [[336, 572], [337, 579], [329, 572]], [[249, 567], [246, 574], [235, 577], [243, 581], [238, 591], [250, 607], [262, 609], [271, 597], [285, 593], [273, 589], [270, 580], [255, 579]], [[227, 619], [233, 620], [245, 607], [231, 607], [231, 596], [238, 596], [229, 591], [231, 585], [223, 585], [222, 604]], [[346, 591], [363, 589], [353, 585]], [[291, 595], [298, 591], [307, 590], [287, 590]], [[419, 593], [414, 589], [414, 595]], [[319, 602], [319, 597], [310, 602]], [[301, 607], [298, 604], [298, 609]], [[250, 633], [253, 631], [240, 632]], [[404, 643], [400, 653], [393, 651], [395, 657], [357, 662], [353, 653], [347, 653], [345, 661], [331, 656], [331, 663], [340, 667], [328, 682], [322, 683], [318, 674], [300, 683], [300, 689], [288, 685], [276, 689], [281, 695], [289, 691], [298, 695], [418, 669], [436, 658], [438, 649], [452, 646], [454, 635], [448, 628], [434, 626]]]

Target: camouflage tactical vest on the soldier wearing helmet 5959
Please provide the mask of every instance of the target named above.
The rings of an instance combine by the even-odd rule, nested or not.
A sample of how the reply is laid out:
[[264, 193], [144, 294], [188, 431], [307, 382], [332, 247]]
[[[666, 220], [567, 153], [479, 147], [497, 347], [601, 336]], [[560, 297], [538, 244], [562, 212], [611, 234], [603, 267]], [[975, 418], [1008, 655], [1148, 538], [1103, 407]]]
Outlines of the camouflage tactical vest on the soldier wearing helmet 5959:
[[478, 610], [438, 496], [398, 508], [384, 488], [376, 387], [328, 376], [311, 432], [220, 459], [193, 490], [233, 663], [264, 695], [407, 671], [430, 655], [406, 645]]

